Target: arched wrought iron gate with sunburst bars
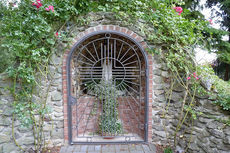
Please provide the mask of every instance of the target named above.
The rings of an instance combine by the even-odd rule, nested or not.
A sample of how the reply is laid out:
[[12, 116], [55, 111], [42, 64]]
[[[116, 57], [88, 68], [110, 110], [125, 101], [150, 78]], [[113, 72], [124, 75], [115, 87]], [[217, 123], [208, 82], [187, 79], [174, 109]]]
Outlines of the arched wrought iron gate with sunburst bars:
[[147, 62], [122, 33], [94, 33], [69, 54], [70, 143], [147, 141]]

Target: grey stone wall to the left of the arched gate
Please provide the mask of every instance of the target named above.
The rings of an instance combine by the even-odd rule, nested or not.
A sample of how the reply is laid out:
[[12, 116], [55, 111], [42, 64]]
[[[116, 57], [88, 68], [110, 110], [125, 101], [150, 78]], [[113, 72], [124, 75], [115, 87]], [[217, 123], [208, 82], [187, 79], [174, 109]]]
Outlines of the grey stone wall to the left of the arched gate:
[[[60, 54], [52, 56], [49, 65], [49, 79], [43, 79], [41, 90], [40, 88], [38, 89], [39, 94], [34, 95], [34, 99], [38, 101], [41, 100], [41, 97], [43, 97], [47, 91], [48, 84], [51, 83], [47, 99], [47, 105], [51, 110], [51, 120], [48, 119], [44, 125], [48, 146], [64, 144], [61, 59]], [[53, 77], [52, 81], [51, 75]], [[0, 153], [22, 152], [15, 145], [12, 136], [13, 98], [7, 89], [8, 87], [12, 87], [12, 85], [12, 81], [7, 78], [6, 74], [0, 74]], [[24, 149], [29, 149], [33, 146], [32, 128], [22, 127], [17, 118], [14, 122], [14, 134], [16, 142]]]

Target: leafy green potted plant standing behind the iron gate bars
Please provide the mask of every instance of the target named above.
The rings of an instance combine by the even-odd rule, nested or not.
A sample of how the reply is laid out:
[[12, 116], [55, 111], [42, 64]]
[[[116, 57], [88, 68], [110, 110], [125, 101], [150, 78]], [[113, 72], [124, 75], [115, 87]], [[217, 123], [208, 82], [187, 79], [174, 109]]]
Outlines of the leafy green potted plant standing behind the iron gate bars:
[[122, 123], [118, 118], [119, 91], [113, 81], [101, 80], [93, 88], [96, 97], [101, 101], [102, 114], [99, 117], [99, 133], [103, 136], [116, 135], [122, 132]]

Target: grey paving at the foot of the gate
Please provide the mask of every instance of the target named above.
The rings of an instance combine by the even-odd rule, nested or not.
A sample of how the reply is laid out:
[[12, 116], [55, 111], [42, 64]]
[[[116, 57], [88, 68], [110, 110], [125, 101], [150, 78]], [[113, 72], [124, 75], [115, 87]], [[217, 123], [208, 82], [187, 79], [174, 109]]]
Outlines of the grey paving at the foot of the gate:
[[153, 144], [72, 145], [63, 146], [60, 153], [156, 153]]

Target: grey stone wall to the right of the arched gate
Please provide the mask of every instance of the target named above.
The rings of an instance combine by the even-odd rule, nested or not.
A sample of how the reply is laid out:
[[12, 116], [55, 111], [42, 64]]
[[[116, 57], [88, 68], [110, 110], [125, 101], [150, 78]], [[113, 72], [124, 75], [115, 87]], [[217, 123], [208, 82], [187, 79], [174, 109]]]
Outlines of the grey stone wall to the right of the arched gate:
[[[179, 85], [173, 90], [168, 111], [165, 113], [166, 92], [170, 86], [169, 73], [164, 63], [157, 56], [154, 57], [153, 69], [153, 143], [161, 145], [174, 145], [174, 133], [178, 124], [182, 101], [185, 91]], [[183, 126], [177, 133], [177, 151], [199, 153], [229, 153], [230, 152], [230, 126], [221, 120], [229, 120], [229, 111], [213, 104], [215, 99], [203, 96], [196, 97], [194, 110], [202, 112], [197, 114], [194, 123], [188, 115]], [[165, 113], [165, 117], [163, 114]], [[192, 126], [193, 124], [193, 126]], [[188, 148], [187, 148], [188, 147]]]

